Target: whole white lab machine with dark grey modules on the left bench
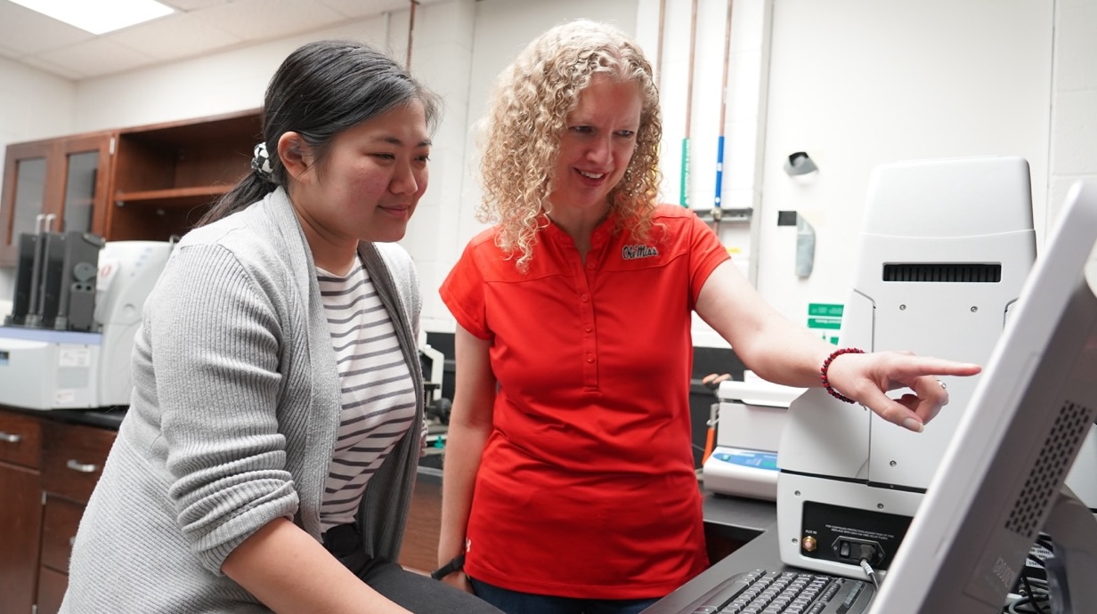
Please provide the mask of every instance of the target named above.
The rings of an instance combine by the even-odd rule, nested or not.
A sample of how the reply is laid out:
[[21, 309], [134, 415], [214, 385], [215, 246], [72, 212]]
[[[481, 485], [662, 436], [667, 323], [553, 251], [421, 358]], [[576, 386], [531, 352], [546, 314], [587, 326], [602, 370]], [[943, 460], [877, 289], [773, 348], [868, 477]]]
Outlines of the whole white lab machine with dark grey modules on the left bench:
[[0, 405], [129, 405], [134, 337], [172, 245], [22, 235], [12, 309], [0, 327]]

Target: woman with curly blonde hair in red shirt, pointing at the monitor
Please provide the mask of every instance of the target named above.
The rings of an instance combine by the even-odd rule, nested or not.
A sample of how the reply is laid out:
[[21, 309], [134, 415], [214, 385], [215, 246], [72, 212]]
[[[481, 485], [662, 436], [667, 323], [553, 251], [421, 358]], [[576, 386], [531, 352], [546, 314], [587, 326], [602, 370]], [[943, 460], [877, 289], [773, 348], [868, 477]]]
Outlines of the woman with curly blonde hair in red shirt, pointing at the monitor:
[[[434, 576], [500, 610], [637, 613], [705, 568], [692, 311], [761, 377], [914, 430], [947, 400], [929, 374], [979, 371], [834, 352], [767, 306], [690, 209], [658, 205], [658, 91], [619, 30], [580, 20], [534, 39], [487, 125], [479, 214], [496, 225], [440, 291], [456, 389]], [[884, 395], [903, 386], [915, 395]]]

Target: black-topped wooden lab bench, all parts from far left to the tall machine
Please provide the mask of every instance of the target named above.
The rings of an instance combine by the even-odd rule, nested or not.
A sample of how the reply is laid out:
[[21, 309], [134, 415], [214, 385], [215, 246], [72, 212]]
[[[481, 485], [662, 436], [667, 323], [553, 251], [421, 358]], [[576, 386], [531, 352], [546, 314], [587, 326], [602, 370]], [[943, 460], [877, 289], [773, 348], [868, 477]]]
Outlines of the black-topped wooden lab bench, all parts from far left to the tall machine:
[[[68, 583], [72, 538], [125, 408], [34, 411], [0, 405], [0, 614], [53, 613]], [[437, 566], [441, 525], [440, 451], [422, 458], [400, 565]], [[780, 566], [771, 501], [704, 492], [712, 566], [645, 611], [677, 612], [736, 571]]]

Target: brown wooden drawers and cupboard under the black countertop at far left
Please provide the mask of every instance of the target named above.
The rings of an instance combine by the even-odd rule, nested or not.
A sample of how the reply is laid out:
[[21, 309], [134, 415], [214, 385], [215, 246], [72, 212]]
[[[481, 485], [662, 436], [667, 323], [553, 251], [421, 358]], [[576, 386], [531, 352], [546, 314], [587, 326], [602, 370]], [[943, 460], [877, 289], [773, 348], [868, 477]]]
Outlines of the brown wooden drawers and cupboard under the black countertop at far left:
[[115, 435], [0, 411], [0, 614], [60, 607], [72, 539]]

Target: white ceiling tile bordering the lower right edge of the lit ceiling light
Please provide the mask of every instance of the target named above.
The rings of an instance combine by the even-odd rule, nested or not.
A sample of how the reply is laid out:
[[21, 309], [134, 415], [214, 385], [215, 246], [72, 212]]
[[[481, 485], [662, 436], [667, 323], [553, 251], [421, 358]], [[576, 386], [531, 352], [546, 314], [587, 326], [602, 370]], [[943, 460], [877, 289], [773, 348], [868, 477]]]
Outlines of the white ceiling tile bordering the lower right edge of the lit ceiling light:
[[239, 36], [186, 13], [126, 27], [105, 34], [103, 38], [137, 49], [158, 60], [213, 53], [241, 42]]

